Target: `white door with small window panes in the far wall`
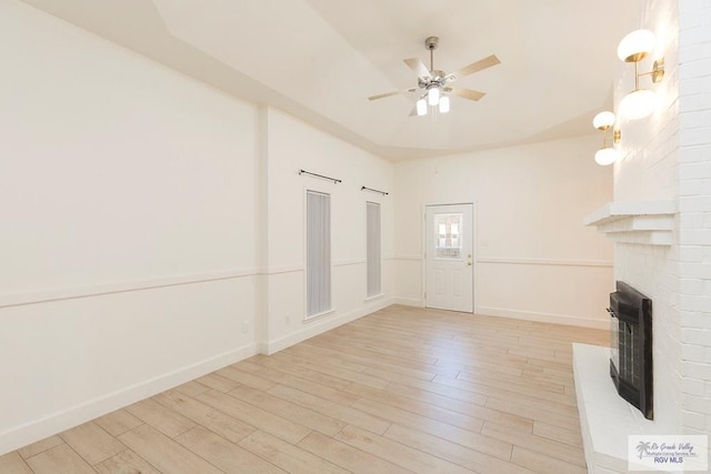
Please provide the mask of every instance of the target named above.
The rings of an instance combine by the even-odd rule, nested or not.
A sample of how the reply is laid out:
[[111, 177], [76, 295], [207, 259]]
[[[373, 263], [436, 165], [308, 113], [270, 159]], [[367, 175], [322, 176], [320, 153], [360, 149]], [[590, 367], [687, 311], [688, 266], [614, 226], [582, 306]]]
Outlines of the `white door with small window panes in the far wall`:
[[473, 204], [428, 205], [424, 305], [473, 312]]

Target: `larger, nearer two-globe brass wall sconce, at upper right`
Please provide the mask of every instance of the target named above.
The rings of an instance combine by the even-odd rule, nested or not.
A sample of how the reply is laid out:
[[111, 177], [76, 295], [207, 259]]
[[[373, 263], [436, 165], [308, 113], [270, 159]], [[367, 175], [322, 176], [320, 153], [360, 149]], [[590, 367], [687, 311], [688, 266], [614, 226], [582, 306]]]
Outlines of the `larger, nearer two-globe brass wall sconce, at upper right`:
[[620, 113], [628, 119], [637, 120], [650, 115], [657, 105], [657, 94], [649, 89], [640, 89], [640, 77], [651, 75], [658, 83], [664, 77], [664, 58], [654, 61], [649, 72], [639, 72], [639, 62], [647, 58], [657, 46], [657, 37], [649, 30], [635, 30], [622, 38], [618, 46], [618, 57], [624, 62], [634, 63], [634, 90], [622, 98]]

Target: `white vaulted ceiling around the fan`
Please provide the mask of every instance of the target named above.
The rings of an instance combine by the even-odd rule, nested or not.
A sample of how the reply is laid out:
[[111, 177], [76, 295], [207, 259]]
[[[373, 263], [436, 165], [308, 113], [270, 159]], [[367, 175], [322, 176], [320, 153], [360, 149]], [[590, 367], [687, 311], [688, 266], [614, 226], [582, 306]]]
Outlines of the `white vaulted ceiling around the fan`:
[[[610, 108], [615, 48], [645, 0], [24, 0], [237, 97], [392, 160], [574, 137]], [[454, 71], [448, 114], [409, 117], [403, 58]]]

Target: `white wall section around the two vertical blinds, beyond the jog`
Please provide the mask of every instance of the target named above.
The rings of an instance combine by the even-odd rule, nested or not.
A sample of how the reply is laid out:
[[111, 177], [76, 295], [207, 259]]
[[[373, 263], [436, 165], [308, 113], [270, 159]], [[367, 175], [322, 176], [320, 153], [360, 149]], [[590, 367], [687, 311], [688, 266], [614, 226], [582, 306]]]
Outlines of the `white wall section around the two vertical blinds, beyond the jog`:
[[[364, 315], [392, 296], [393, 167], [277, 110], [268, 120], [268, 346], [274, 352]], [[299, 170], [341, 183], [299, 175]], [[304, 321], [306, 191], [331, 194], [333, 313]], [[383, 295], [365, 301], [365, 202], [381, 203]]]

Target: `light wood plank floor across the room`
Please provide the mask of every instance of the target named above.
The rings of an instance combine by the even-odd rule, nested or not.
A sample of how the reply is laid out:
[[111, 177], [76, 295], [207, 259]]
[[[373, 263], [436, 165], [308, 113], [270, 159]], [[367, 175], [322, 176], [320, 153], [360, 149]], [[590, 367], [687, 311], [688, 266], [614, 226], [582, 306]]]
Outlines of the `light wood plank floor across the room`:
[[0, 456], [0, 473], [584, 473], [571, 343], [390, 306]]

